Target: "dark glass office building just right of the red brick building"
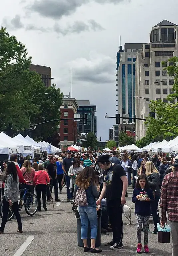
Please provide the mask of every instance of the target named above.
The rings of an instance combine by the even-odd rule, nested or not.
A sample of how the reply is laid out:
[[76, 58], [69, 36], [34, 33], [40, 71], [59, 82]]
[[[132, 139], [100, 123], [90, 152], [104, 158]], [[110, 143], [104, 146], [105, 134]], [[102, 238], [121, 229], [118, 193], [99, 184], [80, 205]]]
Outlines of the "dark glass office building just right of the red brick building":
[[77, 122], [79, 132], [93, 132], [96, 136], [96, 105], [91, 105], [89, 100], [78, 100], [77, 103], [79, 105], [77, 113], [81, 114], [81, 118], [85, 118], [87, 114], [87, 124], [84, 124], [82, 120]]

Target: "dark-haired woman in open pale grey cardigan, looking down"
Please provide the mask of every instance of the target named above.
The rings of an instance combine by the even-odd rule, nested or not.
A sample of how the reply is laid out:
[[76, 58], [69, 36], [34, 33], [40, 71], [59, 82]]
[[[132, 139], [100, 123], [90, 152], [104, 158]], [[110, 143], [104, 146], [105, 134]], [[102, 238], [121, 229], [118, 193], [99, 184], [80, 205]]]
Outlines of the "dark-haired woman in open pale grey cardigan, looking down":
[[73, 162], [73, 165], [69, 168], [68, 176], [71, 177], [70, 179], [70, 186], [69, 189], [71, 191], [71, 201], [74, 200], [74, 185], [75, 185], [75, 179], [78, 174], [80, 174], [83, 171], [84, 167], [80, 165], [80, 161], [78, 159], [75, 159]]

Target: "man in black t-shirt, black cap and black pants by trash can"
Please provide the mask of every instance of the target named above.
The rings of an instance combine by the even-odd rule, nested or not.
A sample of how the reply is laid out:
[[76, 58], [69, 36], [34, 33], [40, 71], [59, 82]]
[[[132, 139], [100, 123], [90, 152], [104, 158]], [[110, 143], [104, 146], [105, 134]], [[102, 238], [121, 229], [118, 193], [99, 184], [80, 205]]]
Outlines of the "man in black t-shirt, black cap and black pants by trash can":
[[123, 205], [126, 204], [125, 195], [127, 192], [128, 180], [124, 169], [109, 161], [108, 155], [98, 158], [98, 165], [104, 170], [103, 189], [96, 204], [101, 205], [101, 200], [106, 196], [107, 213], [112, 227], [113, 239], [105, 243], [110, 249], [122, 248], [123, 222], [122, 212]]

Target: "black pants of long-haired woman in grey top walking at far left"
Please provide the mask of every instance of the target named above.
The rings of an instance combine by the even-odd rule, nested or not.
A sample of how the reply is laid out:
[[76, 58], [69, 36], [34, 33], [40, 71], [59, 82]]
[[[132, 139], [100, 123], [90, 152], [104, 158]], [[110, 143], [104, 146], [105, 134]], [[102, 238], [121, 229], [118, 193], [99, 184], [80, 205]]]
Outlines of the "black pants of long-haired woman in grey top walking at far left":
[[[12, 210], [17, 219], [19, 230], [22, 230], [22, 221], [21, 221], [20, 213], [18, 211], [18, 201], [13, 203]], [[3, 218], [2, 218], [2, 222], [1, 222], [0, 231], [4, 231], [4, 228], [5, 228], [5, 225], [7, 222], [8, 211], [9, 211], [9, 202], [7, 202], [4, 197], [4, 199], [3, 199]]]

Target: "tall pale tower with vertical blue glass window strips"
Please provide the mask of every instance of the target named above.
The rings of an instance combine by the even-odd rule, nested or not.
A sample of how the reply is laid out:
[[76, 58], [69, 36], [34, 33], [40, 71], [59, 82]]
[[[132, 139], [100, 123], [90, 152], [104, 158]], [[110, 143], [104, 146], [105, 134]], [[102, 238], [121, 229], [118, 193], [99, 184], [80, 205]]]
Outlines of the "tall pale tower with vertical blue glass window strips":
[[[117, 70], [118, 81], [117, 99], [118, 114], [129, 119], [120, 119], [120, 123], [133, 123], [132, 117], [135, 116], [135, 61], [137, 51], [142, 49], [142, 43], [126, 43], [124, 49], [120, 52], [120, 61]], [[118, 61], [117, 61], [118, 63]], [[119, 127], [120, 130], [120, 127]]]

